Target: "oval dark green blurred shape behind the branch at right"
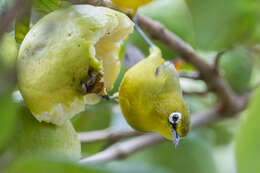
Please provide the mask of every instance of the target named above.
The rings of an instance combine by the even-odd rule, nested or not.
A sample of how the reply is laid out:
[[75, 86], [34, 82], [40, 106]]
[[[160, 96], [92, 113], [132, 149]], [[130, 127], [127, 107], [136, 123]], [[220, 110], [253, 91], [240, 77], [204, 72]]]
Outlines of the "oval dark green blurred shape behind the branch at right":
[[245, 92], [250, 83], [253, 70], [253, 58], [244, 47], [236, 47], [225, 53], [220, 59], [220, 68], [224, 78], [237, 93]]

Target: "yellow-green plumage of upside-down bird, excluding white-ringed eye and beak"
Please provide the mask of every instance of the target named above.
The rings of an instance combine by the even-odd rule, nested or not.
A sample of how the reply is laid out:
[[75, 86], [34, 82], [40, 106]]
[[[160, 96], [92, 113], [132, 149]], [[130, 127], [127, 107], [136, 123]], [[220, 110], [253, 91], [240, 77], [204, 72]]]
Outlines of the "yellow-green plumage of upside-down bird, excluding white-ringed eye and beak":
[[165, 62], [160, 49], [151, 48], [148, 58], [130, 68], [119, 88], [119, 103], [127, 122], [136, 130], [161, 133], [172, 139], [168, 117], [182, 113], [177, 133], [184, 137], [189, 131], [188, 108], [182, 98], [174, 65]]

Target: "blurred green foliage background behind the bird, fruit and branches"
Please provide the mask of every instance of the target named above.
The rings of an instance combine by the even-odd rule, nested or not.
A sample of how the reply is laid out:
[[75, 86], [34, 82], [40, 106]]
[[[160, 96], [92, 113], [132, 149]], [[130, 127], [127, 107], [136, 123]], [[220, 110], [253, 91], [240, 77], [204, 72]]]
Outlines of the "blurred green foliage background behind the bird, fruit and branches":
[[[10, 8], [13, 0], [0, 0], [0, 13]], [[0, 172], [29, 173], [257, 173], [260, 172], [260, 88], [253, 92], [248, 108], [236, 118], [225, 119], [192, 131], [178, 149], [171, 142], [164, 142], [138, 152], [123, 161], [114, 161], [104, 166], [79, 166], [71, 158], [56, 151], [35, 151], [21, 154], [16, 152], [19, 144], [17, 134], [22, 133], [21, 109], [13, 102], [15, 83], [15, 59], [20, 40], [15, 31], [32, 26], [45, 14], [64, 6], [56, 0], [34, 0], [31, 23], [13, 24], [0, 41]], [[258, 0], [156, 0], [140, 9], [140, 14], [163, 23], [169, 30], [192, 45], [205, 60], [212, 62], [218, 51], [226, 50], [220, 61], [221, 75], [235, 92], [243, 94], [256, 88], [260, 82], [260, 2]], [[21, 28], [22, 27], [22, 28]], [[24, 33], [26, 34], [26, 32]], [[15, 40], [16, 38], [16, 40]], [[155, 42], [167, 59], [176, 58], [174, 52]], [[129, 46], [130, 45], [130, 46]], [[148, 47], [137, 33], [124, 43], [121, 73], [112, 93], [116, 92], [124, 72], [133, 62], [148, 54]], [[133, 49], [134, 46], [134, 49]], [[137, 49], [139, 48], [142, 53]], [[125, 53], [126, 51], [126, 53]], [[131, 56], [136, 52], [138, 57]], [[125, 57], [125, 58], [124, 58]], [[128, 60], [127, 60], [128, 59]], [[129, 61], [129, 59], [132, 59]], [[184, 71], [193, 71], [190, 65], [183, 65]], [[202, 81], [181, 79], [185, 92], [205, 91]], [[191, 113], [205, 110], [216, 100], [214, 94], [203, 96], [185, 95]], [[259, 121], [259, 122], [258, 122]], [[72, 120], [77, 132], [105, 128], [130, 129], [115, 102], [86, 106], [86, 110]], [[37, 131], [33, 125], [24, 135]], [[52, 130], [52, 129], [47, 129]], [[26, 134], [28, 133], [28, 134]], [[58, 132], [57, 132], [58, 133]], [[40, 135], [39, 135], [40, 136]], [[52, 137], [55, 140], [55, 137]], [[44, 141], [50, 139], [44, 137]], [[32, 141], [30, 141], [32, 140]], [[24, 147], [28, 150], [34, 142], [28, 137]], [[73, 140], [73, 137], [68, 141]], [[67, 143], [66, 141], [59, 141]], [[28, 145], [26, 144], [28, 143]], [[27, 145], [27, 146], [26, 146]], [[45, 144], [43, 144], [45, 145]], [[55, 149], [57, 146], [45, 148]], [[61, 144], [63, 145], [63, 144]], [[74, 147], [77, 144], [71, 144]], [[107, 141], [81, 145], [82, 157], [103, 150]], [[59, 147], [59, 146], [58, 146]], [[70, 147], [70, 146], [67, 146]]]

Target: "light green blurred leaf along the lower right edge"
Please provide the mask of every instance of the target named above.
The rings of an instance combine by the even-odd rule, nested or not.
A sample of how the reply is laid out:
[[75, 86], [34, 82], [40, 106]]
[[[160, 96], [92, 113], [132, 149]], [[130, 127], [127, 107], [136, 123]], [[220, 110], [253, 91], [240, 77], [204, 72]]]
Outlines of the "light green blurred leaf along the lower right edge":
[[236, 162], [239, 173], [258, 173], [260, 170], [260, 88], [250, 101], [236, 137]]

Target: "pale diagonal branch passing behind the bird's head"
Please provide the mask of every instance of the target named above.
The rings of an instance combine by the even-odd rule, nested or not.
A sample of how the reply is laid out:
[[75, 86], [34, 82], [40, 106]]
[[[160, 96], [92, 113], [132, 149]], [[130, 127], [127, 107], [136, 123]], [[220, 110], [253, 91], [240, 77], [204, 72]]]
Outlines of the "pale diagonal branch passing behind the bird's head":
[[[191, 129], [196, 129], [218, 120], [220, 118], [218, 114], [219, 108], [219, 106], [215, 106], [207, 111], [193, 115], [191, 119]], [[159, 144], [163, 141], [166, 140], [161, 135], [157, 133], [147, 133], [142, 136], [132, 138], [128, 141], [118, 142], [102, 152], [82, 159], [80, 163], [98, 164], [125, 159], [140, 150]]]

